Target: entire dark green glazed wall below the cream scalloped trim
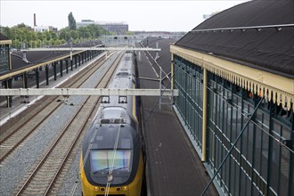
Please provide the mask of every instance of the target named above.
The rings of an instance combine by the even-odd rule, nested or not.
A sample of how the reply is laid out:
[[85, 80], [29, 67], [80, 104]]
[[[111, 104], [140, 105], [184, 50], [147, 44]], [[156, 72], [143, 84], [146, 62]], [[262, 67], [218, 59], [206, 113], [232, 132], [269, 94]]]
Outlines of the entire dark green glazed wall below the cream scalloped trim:
[[203, 114], [202, 73], [200, 66], [174, 54], [174, 88], [180, 92], [176, 110], [200, 152], [206, 115], [205, 166], [211, 176], [245, 128], [216, 176], [218, 190], [227, 195], [293, 195], [293, 110], [263, 100], [245, 127], [261, 98], [208, 71], [208, 113]]

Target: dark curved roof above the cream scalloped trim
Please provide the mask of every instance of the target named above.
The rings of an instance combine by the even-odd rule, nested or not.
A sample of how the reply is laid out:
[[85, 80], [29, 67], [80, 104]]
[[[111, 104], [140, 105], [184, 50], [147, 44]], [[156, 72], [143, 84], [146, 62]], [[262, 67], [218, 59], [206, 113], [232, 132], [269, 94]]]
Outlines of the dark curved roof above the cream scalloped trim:
[[250, 1], [205, 20], [176, 45], [294, 78], [293, 24], [293, 0]]

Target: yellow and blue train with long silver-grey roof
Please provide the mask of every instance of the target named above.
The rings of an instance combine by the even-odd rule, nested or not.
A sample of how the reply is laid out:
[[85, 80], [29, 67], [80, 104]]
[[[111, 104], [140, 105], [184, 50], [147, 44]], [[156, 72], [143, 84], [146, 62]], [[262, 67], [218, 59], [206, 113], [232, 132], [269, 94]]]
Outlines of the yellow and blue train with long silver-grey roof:
[[[125, 53], [109, 88], [135, 88], [135, 54]], [[133, 96], [104, 96], [80, 159], [83, 195], [141, 195], [143, 145]]]

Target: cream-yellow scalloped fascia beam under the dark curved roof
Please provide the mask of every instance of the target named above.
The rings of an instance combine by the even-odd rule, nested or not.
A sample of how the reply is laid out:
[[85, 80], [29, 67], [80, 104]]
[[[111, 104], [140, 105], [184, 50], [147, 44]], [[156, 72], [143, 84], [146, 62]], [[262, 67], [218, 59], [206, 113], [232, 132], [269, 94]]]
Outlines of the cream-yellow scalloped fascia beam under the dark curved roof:
[[[217, 58], [208, 53], [199, 53], [176, 45], [170, 45], [170, 51], [172, 54], [191, 61], [254, 94], [263, 96], [267, 100], [273, 99], [278, 105], [282, 103], [282, 106], [287, 106], [288, 110], [290, 110], [290, 102], [294, 102], [294, 79], [292, 78], [249, 68], [233, 61]], [[273, 97], [271, 96], [272, 93], [274, 94]]]

